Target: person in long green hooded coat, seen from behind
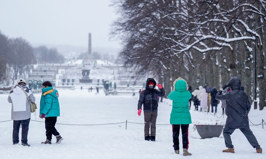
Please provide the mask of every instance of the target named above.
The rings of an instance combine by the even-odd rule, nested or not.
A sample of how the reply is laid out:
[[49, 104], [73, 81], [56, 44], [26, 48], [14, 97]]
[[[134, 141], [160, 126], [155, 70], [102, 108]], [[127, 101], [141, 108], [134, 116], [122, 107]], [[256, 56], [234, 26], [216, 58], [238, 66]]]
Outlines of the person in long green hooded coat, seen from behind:
[[187, 90], [187, 83], [182, 78], [177, 78], [173, 83], [173, 90], [168, 94], [168, 98], [173, 100], [170, 124], [173, 130], [174, 152], [179, 154], [179, 131], [181, 127], [183, 156], [190, 156], [188, 152], [188, 127], [191, 122], [189, 112], [189, 99], [191, 93]]

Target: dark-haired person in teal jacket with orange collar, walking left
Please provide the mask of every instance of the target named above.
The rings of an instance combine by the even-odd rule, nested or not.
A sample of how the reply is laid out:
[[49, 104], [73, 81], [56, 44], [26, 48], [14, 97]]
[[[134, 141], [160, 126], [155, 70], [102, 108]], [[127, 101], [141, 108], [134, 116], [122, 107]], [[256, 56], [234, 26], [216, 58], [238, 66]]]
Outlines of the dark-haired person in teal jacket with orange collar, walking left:
[[46, 141], [42, 142], [44, 144], [52, 144], [52, 135], [55, 135], [58, 144], [63, 140], [55, 128], [57, 117], [60, 116], [58, 97], [58, 91], [53, 89], [51, 82], [45, 81], [40, 101], [40, 118], [45, 118]]

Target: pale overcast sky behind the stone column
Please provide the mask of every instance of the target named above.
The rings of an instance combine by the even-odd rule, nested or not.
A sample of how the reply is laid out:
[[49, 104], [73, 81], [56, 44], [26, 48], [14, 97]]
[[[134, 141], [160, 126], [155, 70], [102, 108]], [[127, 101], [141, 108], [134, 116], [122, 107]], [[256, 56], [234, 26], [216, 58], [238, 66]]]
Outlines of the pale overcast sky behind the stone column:
[[0, 0], [0, 31], [30, 44], [121, 48], [110, 41], [110, 24], [117, 18], [110, 0]]

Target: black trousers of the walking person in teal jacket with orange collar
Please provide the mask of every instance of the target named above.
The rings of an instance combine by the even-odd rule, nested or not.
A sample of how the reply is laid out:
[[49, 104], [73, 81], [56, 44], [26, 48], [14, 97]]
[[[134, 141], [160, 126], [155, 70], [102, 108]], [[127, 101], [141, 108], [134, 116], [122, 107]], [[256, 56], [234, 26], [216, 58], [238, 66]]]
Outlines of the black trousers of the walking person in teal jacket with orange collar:
[[55, 128], [57, 117], [46, 117], [45, 118], [45, 129], [46, 129], [46, 139], [49, 141], [52, 140], [52, 135], [59, 135], [59, 132], [57, 132]]

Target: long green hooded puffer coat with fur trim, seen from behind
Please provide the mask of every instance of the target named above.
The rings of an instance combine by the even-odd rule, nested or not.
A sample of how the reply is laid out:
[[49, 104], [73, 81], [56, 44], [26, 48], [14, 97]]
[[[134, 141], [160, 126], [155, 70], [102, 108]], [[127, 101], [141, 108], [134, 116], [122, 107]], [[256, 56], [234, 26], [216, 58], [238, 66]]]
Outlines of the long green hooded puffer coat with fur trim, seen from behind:
[[168, 98], [173, 100], [170, 124], [190, 124], [192, 123], [189, 112], [191, 93], [187, 91], [186, 81], [178, 78], [173, 86], [174, 90], [168, 94]]

